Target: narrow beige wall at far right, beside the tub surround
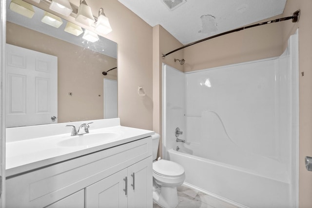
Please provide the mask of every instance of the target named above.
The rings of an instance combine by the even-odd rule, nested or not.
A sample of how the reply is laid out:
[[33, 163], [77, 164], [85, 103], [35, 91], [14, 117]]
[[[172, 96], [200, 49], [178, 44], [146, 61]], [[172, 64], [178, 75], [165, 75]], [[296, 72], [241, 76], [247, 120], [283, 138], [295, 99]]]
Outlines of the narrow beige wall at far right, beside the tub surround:
[[[299, 28], [299, 207], [312, 207], [312, 172], [305, 168], [305, 156], [312, 156], [312, 1], [287, 0], [284, 16], [301, 10], [298, 23], [283, 23], [284, 48]], [[304, 72], [304, 76], [301, 75]]]

